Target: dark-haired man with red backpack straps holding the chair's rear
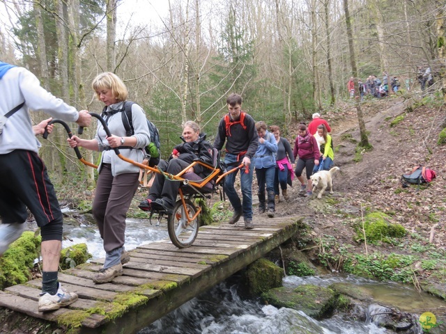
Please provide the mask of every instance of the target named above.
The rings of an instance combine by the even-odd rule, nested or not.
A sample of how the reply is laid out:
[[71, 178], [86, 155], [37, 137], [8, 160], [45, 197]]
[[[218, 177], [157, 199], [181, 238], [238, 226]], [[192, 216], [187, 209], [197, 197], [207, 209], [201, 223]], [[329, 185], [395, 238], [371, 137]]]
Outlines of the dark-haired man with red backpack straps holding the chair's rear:
[[245, 228], [254, 228], [252, 223], [252, 166], [251, 159], [256, 154], [259, 146], [259, 135], [257, 134], [254, 119], [245, 111], [241, 110], [242, 97], [231, 94], [226, 99], [229, 113], [220, 120], [214, 148], [222, 150], [226, 141], [226, 155], [224, 162], [229, 168], [235, 168], [238, 164], [244, 164], [245, 168], [240, 170], [240, 184], [242, 187], [243, 202], [240, 202], [237, 191], [234, 188], [238, 172], [226, 176], [224, 181], [224, 192], [234, 209], [229, 224], [235, 224], [243, 215]]

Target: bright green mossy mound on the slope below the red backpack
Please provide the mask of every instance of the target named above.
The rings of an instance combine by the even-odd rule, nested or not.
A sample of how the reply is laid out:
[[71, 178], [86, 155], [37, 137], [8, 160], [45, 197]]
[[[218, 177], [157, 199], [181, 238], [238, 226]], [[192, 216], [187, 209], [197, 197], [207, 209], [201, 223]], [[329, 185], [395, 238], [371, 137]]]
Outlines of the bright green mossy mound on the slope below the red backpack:
[[[355, 225], [356, 241], [364, 241], [362, 222]], [[390, 217], [382, 212], [372, 212], [364, 217], [364, 230], [367, 241], [390, 242], [390, 238], [401, 238], [406, 229], [399, 224], [390, 223]]]

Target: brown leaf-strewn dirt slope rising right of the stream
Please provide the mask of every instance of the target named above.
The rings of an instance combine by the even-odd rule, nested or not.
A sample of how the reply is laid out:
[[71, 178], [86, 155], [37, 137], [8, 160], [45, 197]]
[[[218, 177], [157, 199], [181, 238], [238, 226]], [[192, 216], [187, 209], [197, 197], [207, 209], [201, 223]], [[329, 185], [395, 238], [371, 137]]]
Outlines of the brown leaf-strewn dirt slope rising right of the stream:
[[[361, 108], [373, 149], [357, 150], [360, 132], [353, 102], [323, 114], [332, 127], [334, 166], [341, 169], [334, 175], [334, 193], [326, 191], [322, 199], [301, 197], [295, 179], [288, 190], [291, 200], [281, 196], [276, 216], [305, 217], [309, 236], [297, 246], [316, 264], [413, 283], [446, 299], [446, 145], [437, 143], [445, 127], [444, 108], [429, 97], [414, 102], [394, 96], [368, 100]], [[401, 175], [419, 164], [435, 170], [436, 179], [403, 188]], [[362, 222], [369, 221], [371, 212], [387, 225], [402, 225], [406, 235], [382, 236], [366, 245]]]

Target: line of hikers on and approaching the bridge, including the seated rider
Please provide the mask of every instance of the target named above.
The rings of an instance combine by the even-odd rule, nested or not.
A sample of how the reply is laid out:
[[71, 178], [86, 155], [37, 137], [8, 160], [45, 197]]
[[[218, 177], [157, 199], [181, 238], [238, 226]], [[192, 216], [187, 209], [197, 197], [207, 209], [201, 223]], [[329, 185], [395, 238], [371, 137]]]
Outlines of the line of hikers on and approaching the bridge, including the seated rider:
[[[99, 74], [92, 83], [93, 91], [105, 104], [102, 117], [111, 136], [107, 136], [101, 122], [93, 139], [79, 136], [68, 138], [72, 148], [82, 147], [102, 152], [98, 166], [98, 180], [92, 211], [98, 224], [105, 249], [105, 263], [92, 277], [97, 284], [107, 283], [123, 274], [123, 264], [130, 261], [125, 250], [125, 218], [130, 203], [139, 186], [139, 167], [120, 159], [114, 151], [132, 161], [141, 163], [144, 148], [151, 141], [151, 134], [144, 110], [137, 103], [131, 104], [132, 134], [129, 135], [122, 117], [128, 89], [112, 72]], [[33, 214], [42, 236], [42, 293], [38, 301], [39, 312], [57, 310], [77, 300], [77, 294], [68, 292], [58, 281], [61, 253], [63, 215], [49, 180], [45, 164], [38, 156], [40, 143], [35, 138], [52, 118], [77, 122], [82, 127], [91, 124], [88, 111], [77, 111], [61, 99], [54, 97], [40, 86], [38, 78], [24, 67], [0, 62], [0, 256], [18, 239], [26, 228], [27, 209]], [[226, 176], [224, 190], [233, 207], [229, 224], [237, 223], [243, 216], [246, 229], [254, 228], [252, 210], [252, 180], [256, 172], [259, 212], [269, 217], [275, 214], [280, 201], [280, 189], [289, 200], [287, 184], [295, 175], [300, 182], [302, 196], [312, 195], [310, 176], [314, 171], [328, 170], [334, 159], [330, 126], [318, 113], [307, 126], [298, 125], [295, 145], [280, 136], [280, 129], [268, 129], [265, 122], [254, 122], [252, 116], [242, 111], [242, 97], [231, 94], [226, 99], [228, 113], [220, 120], [213, 145], [206, 141], [206, 134], [199, 125], [188, 120], [183, 125], [183, 143], [176, 145], [169, 159], [160, 160], [157, 168], [173, 175], [190, 166], [195, 159], [213, 164], [213, 150], [225, 148], [224, 163], [228, 168], [243, 164], [235, 173]], [[45, 111], [49, 118], [32, 126], [29, 111]], [[302, 176], [306, 169], [307, 180]], [[242, 198], [234, 186], [240, 171]], [[200, 165], [187, 172], [206, 177], [210, 170]], [[148, 198], [139, 207], [145, 210], [171, 211], [176, 202], [180, 182], [169, 182], [161, 174], [155, 180]]]

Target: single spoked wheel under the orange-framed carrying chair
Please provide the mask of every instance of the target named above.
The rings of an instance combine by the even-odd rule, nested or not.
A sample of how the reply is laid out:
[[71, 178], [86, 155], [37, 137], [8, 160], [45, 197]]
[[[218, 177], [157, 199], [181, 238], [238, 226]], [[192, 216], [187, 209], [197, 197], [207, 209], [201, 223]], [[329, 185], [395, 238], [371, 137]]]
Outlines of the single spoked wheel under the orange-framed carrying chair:
[[167, 220], [167, 231], [172, 244], [178, 248], [189, 247], [197, 238], [199, 221], [198, 216], [191, 221], [187, 221], [187, 217], [192, 218], [197, 209], [191, 200], [185, 200], [186, 208], [184, 209], [181, 200], [175, 203], [173, 213], [169, 215]]

